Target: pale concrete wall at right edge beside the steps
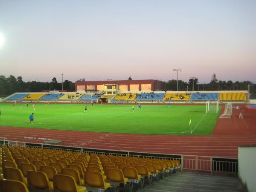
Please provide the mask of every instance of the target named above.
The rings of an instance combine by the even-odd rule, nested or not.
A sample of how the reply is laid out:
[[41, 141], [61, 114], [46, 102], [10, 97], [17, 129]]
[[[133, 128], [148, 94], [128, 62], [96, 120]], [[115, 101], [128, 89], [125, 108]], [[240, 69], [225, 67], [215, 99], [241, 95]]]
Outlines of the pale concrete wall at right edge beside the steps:
[[238, 174], [248, 192], [256, 192], [256, 145], [238, 148]]

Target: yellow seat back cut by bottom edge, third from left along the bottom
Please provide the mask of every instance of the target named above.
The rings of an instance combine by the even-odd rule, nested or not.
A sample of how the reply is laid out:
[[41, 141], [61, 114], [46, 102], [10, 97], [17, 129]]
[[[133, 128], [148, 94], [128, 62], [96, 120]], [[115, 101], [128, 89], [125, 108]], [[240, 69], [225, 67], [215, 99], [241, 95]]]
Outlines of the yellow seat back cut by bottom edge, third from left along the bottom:
[[53, 176], [54, 192], [77, 192], [76, 181], [69, 175], [56, 174]]

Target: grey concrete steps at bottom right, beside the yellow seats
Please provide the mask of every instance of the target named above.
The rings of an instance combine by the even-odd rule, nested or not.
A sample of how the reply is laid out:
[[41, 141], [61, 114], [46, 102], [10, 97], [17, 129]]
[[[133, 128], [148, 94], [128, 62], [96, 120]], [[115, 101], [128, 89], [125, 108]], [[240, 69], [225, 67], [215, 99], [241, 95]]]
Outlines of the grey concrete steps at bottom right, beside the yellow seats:
[[178, 172], [137, 192], [247, 192], [241, 180], [227, 175]]

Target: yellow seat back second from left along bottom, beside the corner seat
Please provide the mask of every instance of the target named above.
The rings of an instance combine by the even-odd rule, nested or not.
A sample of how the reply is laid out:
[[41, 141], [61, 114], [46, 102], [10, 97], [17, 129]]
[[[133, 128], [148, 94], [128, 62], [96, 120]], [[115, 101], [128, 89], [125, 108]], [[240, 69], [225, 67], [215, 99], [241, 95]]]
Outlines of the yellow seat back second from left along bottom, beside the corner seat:
[[28, 171], [27, 180], [28, 180], [29, 187], [52, 191], [52, 187], [49, 183], [49, 179], [44, 172]]

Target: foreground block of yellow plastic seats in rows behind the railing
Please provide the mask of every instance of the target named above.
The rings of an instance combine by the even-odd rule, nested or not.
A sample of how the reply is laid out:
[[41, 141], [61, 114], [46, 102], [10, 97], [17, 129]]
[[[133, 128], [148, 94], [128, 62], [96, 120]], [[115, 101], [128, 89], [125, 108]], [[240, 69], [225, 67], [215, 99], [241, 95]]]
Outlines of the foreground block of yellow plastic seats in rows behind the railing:
[[[23, 183], [25, 189], [46, 191], [63, 191], [72, 186], [79, 192], [87, 189], [116, 191], [120, 187], [128, 187], [126, 191], [130, 191], [129, 186], [133, 190], [141, 189], [147, 183], [171, 176], [181, 169], [178, 160], [98, 156], [93, 153], [6, 145], [0, 148], [0, 160], [3, 164], [1, 177], [5, 179], [1, 182], [15, 180]], [[9, 191], [12, 191], [12, 187], [9, 186]], [[77, 191], [74, 189], [70, 191]]]

